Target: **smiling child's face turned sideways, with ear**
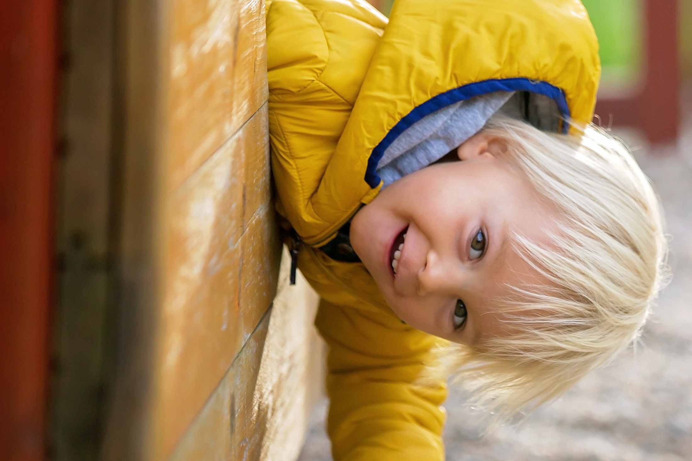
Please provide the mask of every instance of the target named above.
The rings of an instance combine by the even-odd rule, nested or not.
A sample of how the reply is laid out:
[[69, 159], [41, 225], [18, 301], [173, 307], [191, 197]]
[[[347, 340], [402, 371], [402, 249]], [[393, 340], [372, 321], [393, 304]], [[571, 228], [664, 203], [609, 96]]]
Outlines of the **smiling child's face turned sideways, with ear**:
[[475, 135], [457, 149], [462, 162], [405, 176], [354, 217], [354, 250], [413, 328], [462, 344], [500, 335], [493, 303], [510, 294], [504, 285], [547, 283], [511, 250], [509, 229], [547, 244], [558, 215], [503, 152], [502, 141]]

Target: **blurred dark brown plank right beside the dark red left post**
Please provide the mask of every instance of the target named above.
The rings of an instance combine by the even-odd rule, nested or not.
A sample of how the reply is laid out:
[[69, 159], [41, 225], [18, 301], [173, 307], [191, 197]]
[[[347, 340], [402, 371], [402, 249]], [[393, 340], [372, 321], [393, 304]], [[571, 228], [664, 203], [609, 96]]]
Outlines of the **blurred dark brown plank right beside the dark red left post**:
[[113, 265], [111, 126], [113, 2], [73, 0], [63, 8], [61, 155], [56, 250], [58, 296], [53, 329], [51, 432], [55, 461], [96, 459], [109, 391], [104, 357]]

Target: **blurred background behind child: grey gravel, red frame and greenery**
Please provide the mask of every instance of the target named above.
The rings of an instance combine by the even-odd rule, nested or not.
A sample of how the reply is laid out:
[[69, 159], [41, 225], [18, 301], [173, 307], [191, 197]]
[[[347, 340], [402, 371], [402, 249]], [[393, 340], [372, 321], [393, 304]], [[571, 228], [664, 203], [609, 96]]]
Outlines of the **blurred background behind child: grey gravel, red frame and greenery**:
[[[451, 391], [449, 461], [692, 460], [692, 1], [582, 0], [601, 46], [597, 114], [655, 185], [671, 240], [671, 284], [641, 346], [516, 428], [480, 438], [477, 413]], [[372, 1], [388, 12], [392, 1]], [[327, 403], [301, 461], [329, 460]]]

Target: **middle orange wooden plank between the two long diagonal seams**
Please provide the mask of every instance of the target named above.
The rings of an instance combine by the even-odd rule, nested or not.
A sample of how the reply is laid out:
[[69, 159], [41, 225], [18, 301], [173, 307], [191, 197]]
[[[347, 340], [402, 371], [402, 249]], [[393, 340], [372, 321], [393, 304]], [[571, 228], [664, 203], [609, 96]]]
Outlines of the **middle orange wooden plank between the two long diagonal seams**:
[[[164, 418], [163, 453], [224, 377], [275, 294], [280, 243], [270, 184], [259, 179], [269, 174], [266, 116], [265, 105], [168, 200], [157, 414], [176, 418]], [[242, 200], [248, 164], [257, 178], [249, 188], [261, 189], [250, 207]]]

